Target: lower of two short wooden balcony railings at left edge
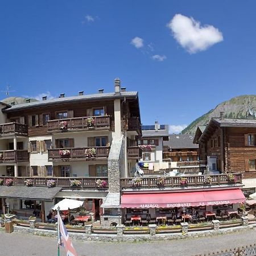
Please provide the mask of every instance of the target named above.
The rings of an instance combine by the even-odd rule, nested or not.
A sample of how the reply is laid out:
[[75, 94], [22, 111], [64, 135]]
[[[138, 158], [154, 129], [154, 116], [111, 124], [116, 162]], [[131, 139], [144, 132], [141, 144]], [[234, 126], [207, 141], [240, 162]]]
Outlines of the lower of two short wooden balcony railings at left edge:
[[0, 151], [0, 163], [27, 162], [30, 156], [27, 150], [5, 150]]

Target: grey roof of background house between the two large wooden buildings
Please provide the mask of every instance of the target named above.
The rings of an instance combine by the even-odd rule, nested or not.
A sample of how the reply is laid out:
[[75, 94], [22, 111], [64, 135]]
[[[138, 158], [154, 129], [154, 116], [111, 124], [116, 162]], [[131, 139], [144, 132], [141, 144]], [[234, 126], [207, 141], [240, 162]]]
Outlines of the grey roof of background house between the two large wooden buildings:
[[198, 144], [193, 143], [195, 134], [170, 134], [169, 141], [164, 141], [164, 146], [172, 149], [177, 148], [198, 148]]

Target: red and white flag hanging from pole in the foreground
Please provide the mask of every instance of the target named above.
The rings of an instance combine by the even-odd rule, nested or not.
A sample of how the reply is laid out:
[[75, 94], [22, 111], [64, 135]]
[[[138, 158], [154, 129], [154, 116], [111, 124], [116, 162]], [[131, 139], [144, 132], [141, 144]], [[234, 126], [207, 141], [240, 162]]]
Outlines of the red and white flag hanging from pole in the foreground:
[[61, 220], [60, 213], [58, 212], [58, 243], [64, 246], [67, 256], [77, 256], [76, 250], [72, 245], [71, 239]]

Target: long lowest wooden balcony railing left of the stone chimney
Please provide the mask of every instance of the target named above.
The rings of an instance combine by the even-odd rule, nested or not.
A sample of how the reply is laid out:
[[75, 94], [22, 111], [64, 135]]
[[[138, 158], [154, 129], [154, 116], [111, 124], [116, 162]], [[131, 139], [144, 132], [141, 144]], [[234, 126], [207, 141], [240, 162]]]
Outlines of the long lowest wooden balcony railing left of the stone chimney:
[[[24, 186], [25, 181], [27, 179], [31, 179], [33, 181], [34, 187], [47, 187], [47, 180], [55, 180], [56, 187], [63, 187], [63, 188], [94, 188], [94, 189], [101, 189], [98, 188], [96, 181], [98, 179], [105, 180], [106, 186], [104, 188], [108, 188], [108, 177], [1, 177], [3, 179], [3, 184], [6, 184], [6, 179], [12, 179], [13, 185], [20, 185]], [[72, 180], [79, 180], [81, 185], [79, 186], [72, 186]], [[103, 188], [103, 189], [104, 189]]]

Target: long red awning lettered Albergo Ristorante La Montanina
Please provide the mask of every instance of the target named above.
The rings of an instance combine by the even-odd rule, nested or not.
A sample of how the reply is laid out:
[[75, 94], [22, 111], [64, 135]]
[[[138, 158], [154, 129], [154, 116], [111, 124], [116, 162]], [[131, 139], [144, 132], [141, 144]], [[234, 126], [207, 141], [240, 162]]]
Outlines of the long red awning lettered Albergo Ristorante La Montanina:
[[245, 201], [241, 189], [216, 191], [123, 194], [121, 208], [174, 208], [236, 204]]

